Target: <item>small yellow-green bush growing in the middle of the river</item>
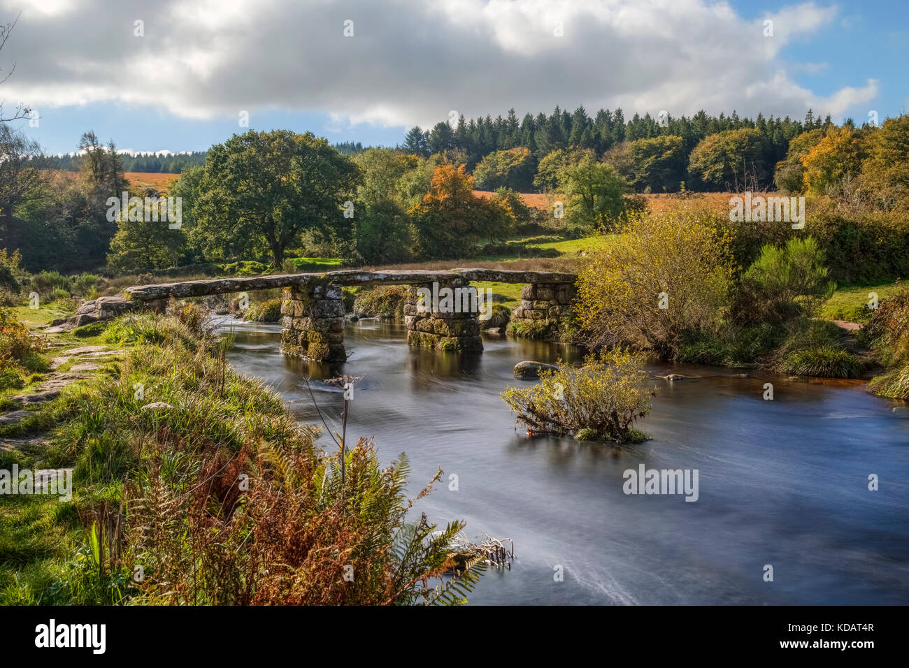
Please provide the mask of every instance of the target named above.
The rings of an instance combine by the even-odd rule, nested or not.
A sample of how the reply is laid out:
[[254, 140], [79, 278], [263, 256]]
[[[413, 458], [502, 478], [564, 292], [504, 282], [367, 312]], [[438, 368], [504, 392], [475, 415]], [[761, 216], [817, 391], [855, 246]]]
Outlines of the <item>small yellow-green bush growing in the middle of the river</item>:
[[502, 394], [517, 419], [534, 431], [639, 441], [634, 422], [650, 410], [653, 389], [645, 387], [643, 358], [613, 350], [592, 354], [575, 368], [560, 363], [533, 387], [508, 387]]

